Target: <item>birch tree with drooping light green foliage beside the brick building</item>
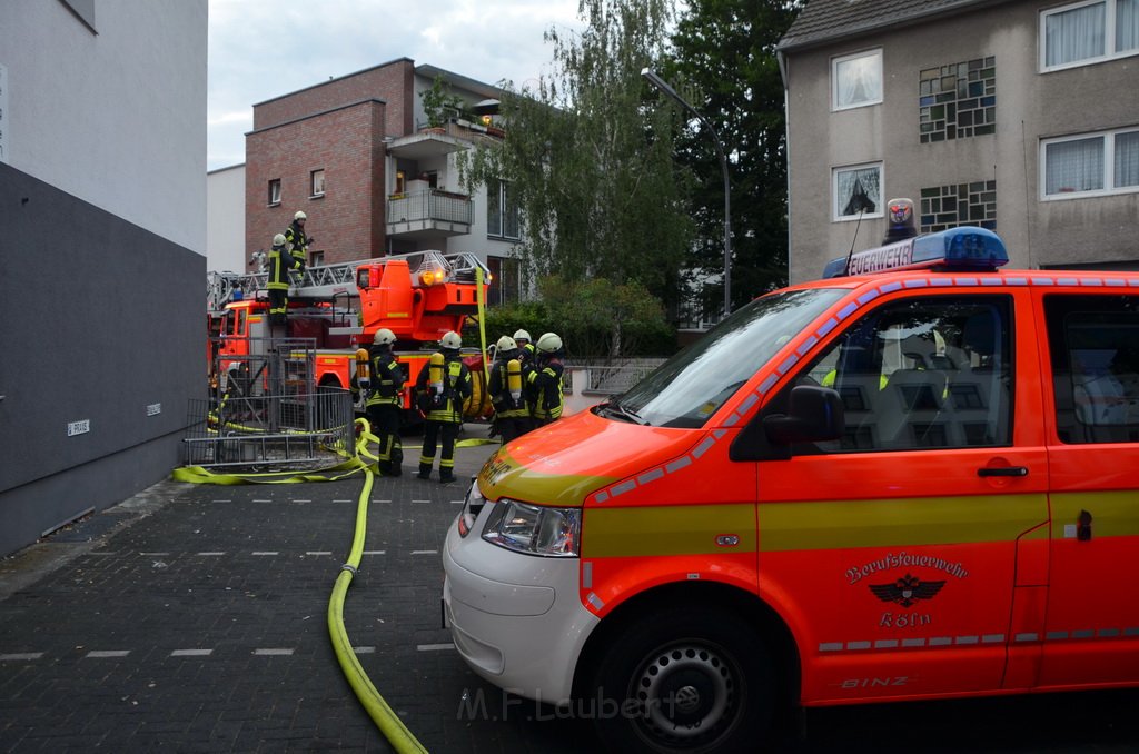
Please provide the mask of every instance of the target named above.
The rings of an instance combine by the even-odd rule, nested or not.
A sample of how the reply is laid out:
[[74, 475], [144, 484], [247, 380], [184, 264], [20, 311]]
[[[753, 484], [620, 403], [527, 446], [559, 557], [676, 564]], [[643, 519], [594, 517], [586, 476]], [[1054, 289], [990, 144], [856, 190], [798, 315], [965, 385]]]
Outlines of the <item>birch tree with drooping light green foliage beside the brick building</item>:
[[468, 188], [508, 182], [531, 279], [636, 282], [674, 302], [693, 223], [671, 113], [647, 108], [640, 71], [664, 54], [671, 0], [581, 0], [580, 36], [557, 30], [554, 73], [503, 84], [506, 138], [467, 153]]

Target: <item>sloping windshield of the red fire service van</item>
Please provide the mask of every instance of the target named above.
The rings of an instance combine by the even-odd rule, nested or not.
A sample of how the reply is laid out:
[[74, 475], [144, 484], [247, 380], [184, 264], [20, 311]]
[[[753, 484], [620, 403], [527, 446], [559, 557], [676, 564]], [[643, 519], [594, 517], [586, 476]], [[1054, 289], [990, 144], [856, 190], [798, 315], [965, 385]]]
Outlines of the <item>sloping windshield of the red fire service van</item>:
[[780, 347], [845, 293], [811, 288], [756, 298], [596, 410], [655, 427], [703, 427]]

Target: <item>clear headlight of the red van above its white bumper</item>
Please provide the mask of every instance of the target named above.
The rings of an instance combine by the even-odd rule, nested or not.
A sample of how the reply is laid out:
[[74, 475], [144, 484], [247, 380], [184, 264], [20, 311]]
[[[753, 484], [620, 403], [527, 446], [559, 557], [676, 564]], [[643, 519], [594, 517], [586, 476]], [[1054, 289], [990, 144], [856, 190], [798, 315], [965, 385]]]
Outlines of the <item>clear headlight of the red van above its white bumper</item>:
[[508, 550], [551, 558], [577, 557], [581, 508], [548, 508], [503, 498], [491, 510], [483, 539]]

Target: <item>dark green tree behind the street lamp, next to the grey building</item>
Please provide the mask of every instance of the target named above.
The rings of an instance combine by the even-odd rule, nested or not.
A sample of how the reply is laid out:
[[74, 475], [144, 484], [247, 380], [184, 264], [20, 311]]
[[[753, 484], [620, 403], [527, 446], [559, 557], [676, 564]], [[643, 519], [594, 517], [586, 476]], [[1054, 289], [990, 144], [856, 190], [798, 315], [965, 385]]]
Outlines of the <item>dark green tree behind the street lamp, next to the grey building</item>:
[[[731, 185], [732, 309], [787, 282], [787, 140], [775, 47], [802, 0], [689, 0], [661, 73], [715, 128]], [[691, 98], [690, 98], [691, 97]], [[723, 270], [723, 175], [711, 137], [689, 132], [680, 159], [697, 177], [689, 268]], [[713, 310], [722, 286], [705, 292]]]

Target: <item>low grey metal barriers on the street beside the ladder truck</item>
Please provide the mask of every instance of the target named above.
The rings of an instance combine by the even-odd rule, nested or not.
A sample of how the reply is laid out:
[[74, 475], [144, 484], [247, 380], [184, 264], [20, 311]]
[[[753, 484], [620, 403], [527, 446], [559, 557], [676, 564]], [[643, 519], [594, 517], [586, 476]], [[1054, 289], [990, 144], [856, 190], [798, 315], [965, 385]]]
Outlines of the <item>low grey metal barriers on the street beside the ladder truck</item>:
[[296, 395], [190, 400], [187, 466], [279, 470], [326, 465], [352, 452], [352, 395], [321, 388]]

